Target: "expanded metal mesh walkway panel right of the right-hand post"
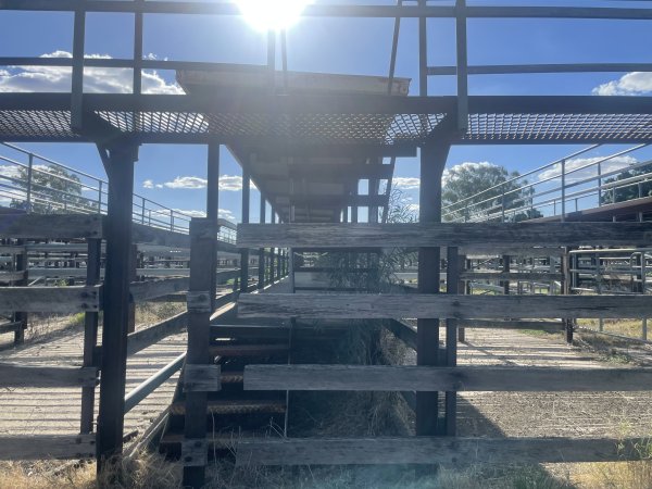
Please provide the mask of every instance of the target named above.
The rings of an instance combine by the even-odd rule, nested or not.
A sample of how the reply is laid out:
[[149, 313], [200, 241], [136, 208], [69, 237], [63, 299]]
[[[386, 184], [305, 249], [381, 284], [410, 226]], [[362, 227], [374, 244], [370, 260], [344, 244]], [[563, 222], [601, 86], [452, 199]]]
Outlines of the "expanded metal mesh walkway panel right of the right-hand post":
[[652, 140], [651, 114], [471, 114], [467, 140]]

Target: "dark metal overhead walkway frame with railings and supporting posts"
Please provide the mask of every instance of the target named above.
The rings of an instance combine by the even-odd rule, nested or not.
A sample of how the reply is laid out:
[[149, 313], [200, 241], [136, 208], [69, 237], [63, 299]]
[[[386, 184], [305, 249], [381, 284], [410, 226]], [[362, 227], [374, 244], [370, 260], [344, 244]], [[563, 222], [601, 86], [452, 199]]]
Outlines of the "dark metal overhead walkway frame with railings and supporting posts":
[[[600, 18], [650, 21], [652, 9], [645, 8], [581, 8], [581, 7], [473, 7], [465, 0], [452, 5], [432, 5], [426, 0], [406, 5], [405, 1], [389, 5], [310, 5], [303, 15], [312, 17], [375, 17], [418, 20], [418, 97], [352, 95], [279, 95], [256, 96], [234, 90], [208, 99], [201, 95], [143, 95], [142, 70], [204, 70], [221, 71], [220, 64], [180, 61], [146, 60], [142, 53], [143, 16], [148, 14], [239, 15], [233, 3], [179, 1], [109, 1], [109, 0], [2, 0], [0, 8], [22, 11], [58, 11], [74, 13], [72, 59], [0, 58], [0, 65], [47, 65], [72, 67], [70, 93], [2, 93], [0, 95], [0, 140], [11, 141], [87, 141], [98, 146], [109, 175], [109, 223], [106, 229], [106, 278], [103, 349], [111, 355], [102, 359], [102, 385], [98, 439], [99, 468], [103, 462], [122, 451], [122, 419], [124, 413], [124, 375], [126, 360], [126, 327], [129, 303], [129, 267], [124, 256], [129, 253], [133, 202], [124, 196], [133, 193], [133, 165], [142, 143], [206, 143], [212, 145], [209, 168], [212, 177], [209, 220], [199, 223], [192, 233], [193, 242], [210, 249], [206, 234], [214, 229], [216, 216], [215, 147], [246, 145], [250, 151], [265, 148], [284, 156], [334, 155], [398, 156], [415, 155], [421, 149], [421, 221], [436, 225], [441, 221], [441, 174], [452, 145], [464, 143], [598, 143], [652, 141], [652, 98], [623, 97], [477, 97], [468, 95], [468, 77], [476, 74], [503, 73], [577, 73], [614, 72], [623, 70], [651, 71], [649, 63], [604, 63], [584, 65], [510, 65], [469, 66], [467, 63], [467, 21], [469, 18]], [[85, 23], [89, 12], [121, 12], [134, 14], [135, 41], [131, 59], [85, 59]], [[428, 18], [452, 18], [456, 25], [456, 65], [428, 65]], [[398, 30], [394, 32], [392, 53], [396, 53]], [[275, 37], [269, 36], [268, 52], [274, 59]], [[393, 60], [393, 54], [392, 54]], [[392, 61], [393, 65], [393, 61]], [[134, 70], [134, 92], [128, 95], [84, 93], [85, 67], [123, 67]], [[273, 73], [267, 66], [241, 70]], [[457, 93], [453, 97], [430, 96], [428, 77], [455, 75]], [[390, 72], [393, 76], [393, 70]], [[213, 165], [213, 166], [211, 166]], [[247, 162], [243, 163], [243, 166]], [[243, 171], [247, 175], [247, 168]], [[246, 183], [243, 222], [249, 218], [249, 178]], [[374, 205], [369, 205], [373, 208]], [[274, 210], [273, 210], [274, 212]], [[280, 214], [280, 213], [279, 213]], [[283, 216], [291, 221], [291, 216]], [[352, 209], [353, 218], [353, 209]], [[355, 220], [358, 209], [355, 206]], [[203, 248], [202, 248], [203, 247]], [[449, 246], [449, 276], [456, 283], [456, 246]], [[246, 252], [243, 252], [243, 258]], [[290, 252], [292, 254], [292, 252]], [[419, 249], [419, 292], [439, 292], [440, 248]], [[290, 260], [290, 267], [291, 265]], [[242, 260], [242, 269], [247, 260]], [[191, 294], [198, 299], [209, 289], [206, 277], [198, 267], [191, 276]], [[192, 275], [192, 274], [191, 274]], [[247, 291], [243, 272], [242, 291]], [[205, 279], [205, 280], [204, 280]], [[454, 293], [451, 286], [449, 293]], [[444, 298], [446, 299], [446, 298]], [[189, 303], [192, 316], [188, 361], [206, 360], [204, 334], [208, 306]], [[210, 315], [210, 314], [209, 314]], [[456, 342], [450, 326], [447, 348], [439, 348], [439, 319], [429, 316], [418, 319], [417, 363], [422, 366], [455, 364]], [[454, 435], [455, 392], [447, 392], [444, 416], [437, 413], [438, 393], [418, 391], [416, 394], [417, 435]], [[199, 418], [205, 412], [205, 392], [191, 394], [192, 406], [187, 410], [197, 419], [186, 426], [190, 451], [204, 450], [205, 426]], [[187, 417], [192, 419], [192, 416]], [[202, 432], [203, 431], [203, 432]], [[195, 440], [195, 441], [193, 441]], [[205, 440], [204, 440], [205, 441]], [[190, 442], [196, 442], [191, 444]], [[184, 471], [184, 482], [200, 487], [204, 481], [201, 456]], [[199, 461], [199, 462], [198, 462]]]

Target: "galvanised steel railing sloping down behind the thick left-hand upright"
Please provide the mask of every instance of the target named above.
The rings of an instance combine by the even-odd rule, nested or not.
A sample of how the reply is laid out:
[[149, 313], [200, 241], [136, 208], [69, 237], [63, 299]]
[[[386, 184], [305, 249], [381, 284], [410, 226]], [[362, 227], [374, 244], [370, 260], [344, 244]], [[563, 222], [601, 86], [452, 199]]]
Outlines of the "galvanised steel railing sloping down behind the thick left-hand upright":
[[[0, 202], [25, 212], [106, 214], [109, 183], [14, 145], [0, 142]], [[67, 175], [67, 176], [65, 176]], [[40, 178], [39, 178], [40, 177]], [[150, 227], [188, 234], [191, 215], [134, 193], [133, 220]], [[220, 240], [236, 242], [236, 226], [220, 220]]]

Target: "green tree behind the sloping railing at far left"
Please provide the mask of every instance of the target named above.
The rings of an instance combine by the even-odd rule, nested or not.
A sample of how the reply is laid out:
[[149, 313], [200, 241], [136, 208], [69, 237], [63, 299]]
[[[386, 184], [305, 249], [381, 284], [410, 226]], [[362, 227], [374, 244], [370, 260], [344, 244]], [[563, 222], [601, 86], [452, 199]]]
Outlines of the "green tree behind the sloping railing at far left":
[[[20, 166], [14, 185], [27, 192], [27, 168]], [[12, 199], [12, 209], [27, 210], [26, 199]], [[38, 214], [97, 212], [97, 202], [82, 196], [82, 181], [60, 166], [32, 172], [32, 212]]]

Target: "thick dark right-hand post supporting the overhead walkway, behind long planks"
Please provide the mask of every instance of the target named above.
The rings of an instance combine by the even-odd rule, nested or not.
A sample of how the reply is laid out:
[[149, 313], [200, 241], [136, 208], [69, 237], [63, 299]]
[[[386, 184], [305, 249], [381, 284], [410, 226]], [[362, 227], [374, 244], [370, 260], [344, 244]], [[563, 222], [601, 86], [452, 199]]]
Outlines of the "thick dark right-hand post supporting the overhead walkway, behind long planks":
[[[421, 150], [419, 222], [441, 221], [441, 175], [450, 145], [431, 143]], [[418, 292], [439, 293], [439, 247], [418, 250]], [[439, 319], [417, 319], [417, 365], [439, 365]], [[438, 392], [416, 392], [416, 435], [439, 432]]]

